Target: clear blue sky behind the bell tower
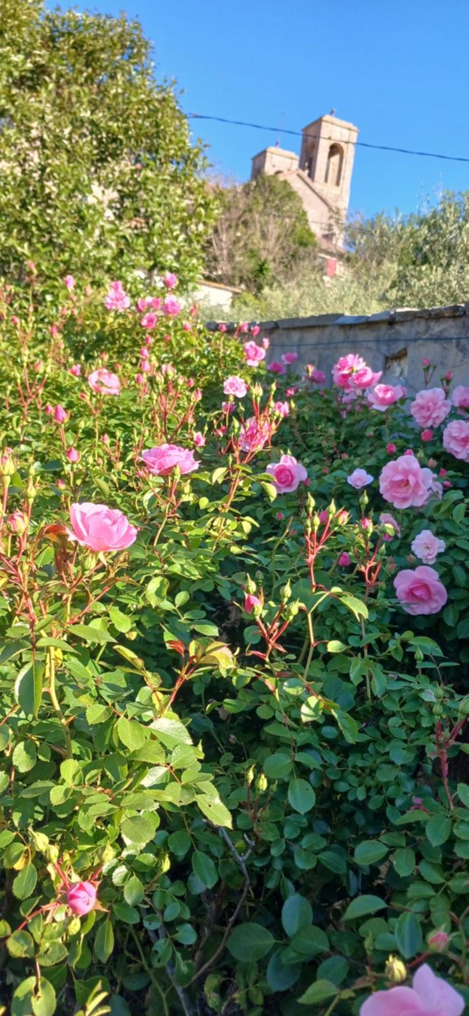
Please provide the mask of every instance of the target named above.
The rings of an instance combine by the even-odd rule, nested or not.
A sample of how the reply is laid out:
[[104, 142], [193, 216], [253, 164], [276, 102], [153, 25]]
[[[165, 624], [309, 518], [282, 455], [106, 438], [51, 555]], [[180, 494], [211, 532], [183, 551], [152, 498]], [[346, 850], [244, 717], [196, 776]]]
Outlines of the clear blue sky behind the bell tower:
[[[65, 0], [61, 5], [67, 6]], [[300, 130], [331, 107], [358, 140], [469, 157], [468, 0], [94, 0], [137, 15], [158, 78], [186, 112]], [[208, 121], [194, 131], [239, 180], [251, 156], [299, 138]], [[411, 211], [469, 189], [469, 163], [356, 149], [350, 211]]]

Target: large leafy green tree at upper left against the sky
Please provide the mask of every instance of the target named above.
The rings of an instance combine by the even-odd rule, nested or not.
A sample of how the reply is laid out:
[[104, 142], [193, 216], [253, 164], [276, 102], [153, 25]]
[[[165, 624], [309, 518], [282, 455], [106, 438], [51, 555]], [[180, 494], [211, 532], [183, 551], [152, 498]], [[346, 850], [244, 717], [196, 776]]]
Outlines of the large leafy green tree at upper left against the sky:
[[200, 272], [213, 198], [138, 21], [2, 0], [0, 270]]

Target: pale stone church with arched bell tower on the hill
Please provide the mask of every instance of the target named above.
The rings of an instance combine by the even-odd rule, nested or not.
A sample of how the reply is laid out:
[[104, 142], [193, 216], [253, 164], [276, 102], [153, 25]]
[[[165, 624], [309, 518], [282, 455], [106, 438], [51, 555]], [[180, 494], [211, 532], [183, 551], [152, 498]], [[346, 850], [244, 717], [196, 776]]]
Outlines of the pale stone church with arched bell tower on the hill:
[[275, 174], [296, 191], [321, 253], [329, 260], [342, 247], [357, 136], [357, 127], [331, 114], [305, 127], [299, 156], [272, 146], [252, 163], [252, 180], [261, 173]]

